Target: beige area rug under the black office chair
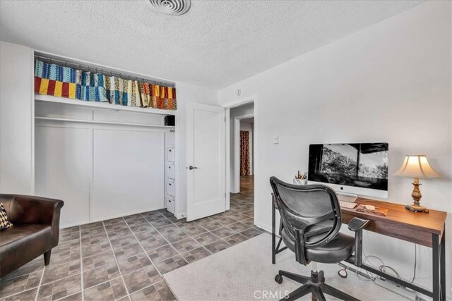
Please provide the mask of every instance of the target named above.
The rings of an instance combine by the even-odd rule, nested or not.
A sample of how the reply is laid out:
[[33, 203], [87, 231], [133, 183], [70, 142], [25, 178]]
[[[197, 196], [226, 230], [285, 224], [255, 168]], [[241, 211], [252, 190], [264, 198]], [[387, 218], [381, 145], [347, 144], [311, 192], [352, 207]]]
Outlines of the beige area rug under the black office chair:
[[[284, 278], [275, 282], [278, 270], [310, 275], [311, 266], [295, 262], [290, 250], [271, 263], [271, 235], [264, 233], [222, 250], [198, 262], [183, 266], [164, 275], [169, 288], [178, 300], [278, 300], [299, 287], [299, 283]], [[317, 264], [325, 272], [326, 283], [360, 300], [407, 300], [381, 288], [371, 281], [363, 281], [349, 271], [346, 279], [338, 276], [336, 264]], [[326, 295], [327, 300], [336, 300]], [[311, 300], [310, 295], [302, 300]]]

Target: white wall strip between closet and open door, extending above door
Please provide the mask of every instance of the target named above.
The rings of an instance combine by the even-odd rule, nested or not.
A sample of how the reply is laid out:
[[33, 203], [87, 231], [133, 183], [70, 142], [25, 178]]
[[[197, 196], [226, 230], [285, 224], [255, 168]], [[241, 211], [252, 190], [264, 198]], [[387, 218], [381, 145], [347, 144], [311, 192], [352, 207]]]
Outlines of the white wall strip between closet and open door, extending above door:
[[186, 103], [199, 102], [218, 105], [216, 90], [177, 82], [177, 120], [176, 120], [176, 154], [177, 154], [177, 183], [176, 183], [176, 216], [186, 216]]

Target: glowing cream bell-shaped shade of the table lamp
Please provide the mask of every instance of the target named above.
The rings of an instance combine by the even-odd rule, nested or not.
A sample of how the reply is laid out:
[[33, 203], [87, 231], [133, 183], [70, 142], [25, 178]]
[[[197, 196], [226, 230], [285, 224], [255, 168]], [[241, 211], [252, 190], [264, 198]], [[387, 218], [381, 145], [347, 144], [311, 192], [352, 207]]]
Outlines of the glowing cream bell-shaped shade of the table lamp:
[[405, 156], [402, 166], [394, 175], [408, 178], [441, 178], [441, 175], [430, 166], [424, 154]]

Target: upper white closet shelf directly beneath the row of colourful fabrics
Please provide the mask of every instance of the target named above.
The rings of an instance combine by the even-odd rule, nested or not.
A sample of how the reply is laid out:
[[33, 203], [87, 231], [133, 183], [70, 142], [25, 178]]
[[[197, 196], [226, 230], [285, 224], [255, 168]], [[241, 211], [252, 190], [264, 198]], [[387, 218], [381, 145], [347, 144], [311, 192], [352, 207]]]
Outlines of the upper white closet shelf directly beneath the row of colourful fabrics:
[[93, 109], [106, 109], [110, 111], [132, 111], [156, 115], [176, 115], [177, 110], [162, 110], [153, 108], [141, 108], [138, 106], [121, 106], [119, 104], [109, 104], [108, 102], [84, 102], [78, 99], [66, 99], [63, 97], [55, 97], [52, 95], [35, 94], [35, 101], [56, 104], [65, 104], [69, 106], [85, 106]]

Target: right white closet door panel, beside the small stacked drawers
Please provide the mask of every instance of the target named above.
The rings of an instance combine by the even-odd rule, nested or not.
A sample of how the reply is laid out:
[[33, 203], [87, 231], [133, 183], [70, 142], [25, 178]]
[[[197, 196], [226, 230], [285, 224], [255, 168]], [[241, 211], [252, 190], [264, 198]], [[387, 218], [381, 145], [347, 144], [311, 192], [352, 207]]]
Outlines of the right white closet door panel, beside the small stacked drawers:
[[165, 207], [165, 134], [94, 130], [93, 220]]

